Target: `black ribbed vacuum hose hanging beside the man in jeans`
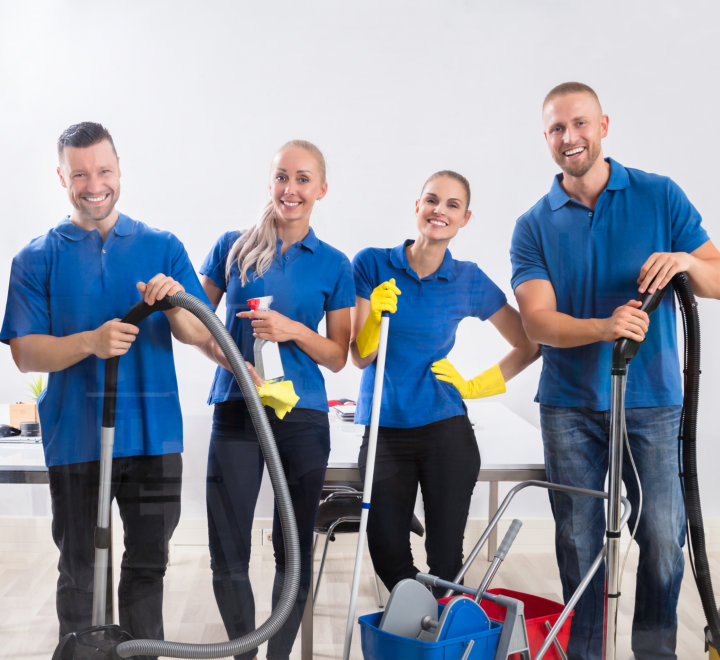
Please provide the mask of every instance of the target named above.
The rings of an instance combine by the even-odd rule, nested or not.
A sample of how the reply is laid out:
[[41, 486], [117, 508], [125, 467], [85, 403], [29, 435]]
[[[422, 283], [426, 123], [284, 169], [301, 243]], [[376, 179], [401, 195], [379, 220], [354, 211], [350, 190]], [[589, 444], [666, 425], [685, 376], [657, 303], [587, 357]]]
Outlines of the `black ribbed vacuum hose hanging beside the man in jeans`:
[[[697, 478], [697, 411], [700, 388], [700, 323], [697, 302], [685, 273], [672, 280], [683, 319], [685, 338], [684, 398], [680, 425], [682, 461], [680, 482], [685, 498], [689, 555], [702, 601], [710, 637], [715, 647], [720, 644], [720, 615], [715, 606], [710, 566], [705, 547], [705, 530], [700, 508], [700, 491]], [[707, 634], [707, 631], [706, 631]]]

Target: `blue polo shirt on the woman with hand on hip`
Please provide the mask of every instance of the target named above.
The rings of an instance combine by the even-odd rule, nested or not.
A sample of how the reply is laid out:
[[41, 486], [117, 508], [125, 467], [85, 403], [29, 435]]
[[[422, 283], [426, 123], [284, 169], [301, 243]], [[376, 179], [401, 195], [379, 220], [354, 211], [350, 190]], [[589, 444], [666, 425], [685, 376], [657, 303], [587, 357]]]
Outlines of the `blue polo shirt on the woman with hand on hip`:
[[[405, 247], [367, 248], [353, 261], [355, 288], [361, 298], [395, 278], [402, 292], [390, 315], [385, 355], [380, 425], [414, 428], [465, 414], [460, 393], [430, 371], [433, 362], [448, 356], [457, 326], [464, 318], [483, 321], [505, 303], [505, 294], [469, 261], [456, 261], [449, 250], [432, 275], [420, 279], [410, 267]], [[469, 365], [467, 365], [469, 367]], [[355, 412], [357, 424], [369, 424], [375, 383], [375, 362], [363, 369]]]

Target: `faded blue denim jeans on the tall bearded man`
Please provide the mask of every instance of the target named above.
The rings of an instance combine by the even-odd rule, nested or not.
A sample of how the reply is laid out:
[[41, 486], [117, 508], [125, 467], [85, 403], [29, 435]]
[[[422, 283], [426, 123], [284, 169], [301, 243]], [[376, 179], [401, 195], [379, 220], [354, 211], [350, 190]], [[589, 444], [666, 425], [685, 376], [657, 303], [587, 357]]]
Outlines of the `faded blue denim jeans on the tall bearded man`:
[[[676, 607], [685, 543], [685, 509], [678, 477], [680, 406], [628, 408], [625, 412], [642, 485], [642, 511], [635, 536], [640, 557], [632, 650], [638, 660], [676, 658]], [[610, 412], [541, 405], [540, 423], [548, 480], [605, 490]], [[623, 482], [632, 505], [632, 528], [637, 520], [639, 492], [625, 447]], [[567, 601], [602, 547], [605, 505], [596, 498], [556, 492], [550, 493], [550, 504]], [[575, 607], [567, 653], [571, 660], [602, 657], [604, 579], [598, 571]]]

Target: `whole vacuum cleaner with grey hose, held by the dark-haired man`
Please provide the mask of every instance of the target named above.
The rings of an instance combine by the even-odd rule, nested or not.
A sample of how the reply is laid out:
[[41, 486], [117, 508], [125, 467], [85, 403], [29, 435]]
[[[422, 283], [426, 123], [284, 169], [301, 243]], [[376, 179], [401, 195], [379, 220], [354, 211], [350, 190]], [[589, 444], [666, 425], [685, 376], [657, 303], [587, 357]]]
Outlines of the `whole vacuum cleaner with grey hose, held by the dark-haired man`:
[[[100, 492], [98, 497], [98, 529], [96, 530], [95, 584], [93, 597], [93, 628], [81, 633], [70, 633], [60, 642], [53, 660], [76, 658], [130, 658], [137, 655], [163, 656], [171, 658], [227, 658], [239, 655], [262, 644], [272, 637], [285, 623], [292, 611], [300, 584], [300, 548], [297, 525], [290, 500], [285, 473], [273, 438], [265, 409], [258, 395], [240, 351], [225, 326], [205, 303], [186, 292], [176, 293], [149, 306], [144, 302], [136, 304], [122, 319], [124, 323], [139, 325], [155, 311], [182, 307], [208, 328], [232, 367], [257, 432], [258, 440], [268, 466], [278, 513], [285, 541], [287, 571], [280, 599], [268, 619], [256, 630], [228, 642], [216, 644], [185, 644], [163, 640], [127, 640], [117, 626], [104, 625], [107, 589], [107, 557], [110, 523], [110, 475], [115, 434], [115, 401], [117, 395], [118, 359], [111, 358], [105, 364], [105, 393], [103, 400], [103, 421], [101, 433]], [[132, 350], [132, 349], [131, 349]], [[294, 404], [293, 404], [294, 405]], [[292, 407], [292, 406], [291, 406]], [[118, 643], [119, 642], [119, 643]]]

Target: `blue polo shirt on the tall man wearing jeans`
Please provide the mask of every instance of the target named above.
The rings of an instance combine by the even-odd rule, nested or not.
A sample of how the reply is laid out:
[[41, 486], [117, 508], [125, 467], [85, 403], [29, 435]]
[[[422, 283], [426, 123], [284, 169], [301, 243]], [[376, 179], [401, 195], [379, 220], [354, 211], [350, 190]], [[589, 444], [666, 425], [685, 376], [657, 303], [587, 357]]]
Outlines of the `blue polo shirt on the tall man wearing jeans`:
[[[607, 161], [610, 178], [594, 211], [568, 197], [558, 174], [513, 233], [513, 289], [527, 280], [549, 280], [558, 311], [575, 318], [607, 318], [637, 298], [640, 268], [653, 252], [692, 252], [708, 240], [700, 214], [671, 179]], [[628, 368], [628, 408], [682, 403], [671, 294], [650, 317]], [[536, 401], [608, 410], [612, 348], [613, 342], [543, 346]]]

